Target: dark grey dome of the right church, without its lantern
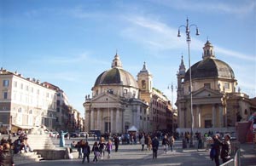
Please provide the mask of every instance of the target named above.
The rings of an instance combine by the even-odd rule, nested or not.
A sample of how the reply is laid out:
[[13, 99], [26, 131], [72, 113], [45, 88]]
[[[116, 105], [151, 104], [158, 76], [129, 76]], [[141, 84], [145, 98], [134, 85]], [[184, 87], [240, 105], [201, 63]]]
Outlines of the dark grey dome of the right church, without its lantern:
[[[222, 60], [207, 58], [201, 60], [195, 65], [191, 66], [191, 78], [213, 78], [222, 77], [227, 79], [234, 79], [235, 74], [232, 68]], [[189, 69], [190, 70], [190, 69]], [[185, 74], [184, 81], [189, 81], [189, 70]]]

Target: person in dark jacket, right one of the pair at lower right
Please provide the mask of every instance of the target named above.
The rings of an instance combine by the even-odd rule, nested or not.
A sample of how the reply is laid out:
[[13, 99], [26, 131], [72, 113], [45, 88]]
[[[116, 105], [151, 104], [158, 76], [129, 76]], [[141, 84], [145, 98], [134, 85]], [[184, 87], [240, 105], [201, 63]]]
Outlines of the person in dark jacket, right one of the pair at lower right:
[[230, 154], [231, 154], [230, 135], [224, 135], [224, 141], [222, 142], [222, 148], [220, 152], [222, 163], [226, 163], [231, 159]]

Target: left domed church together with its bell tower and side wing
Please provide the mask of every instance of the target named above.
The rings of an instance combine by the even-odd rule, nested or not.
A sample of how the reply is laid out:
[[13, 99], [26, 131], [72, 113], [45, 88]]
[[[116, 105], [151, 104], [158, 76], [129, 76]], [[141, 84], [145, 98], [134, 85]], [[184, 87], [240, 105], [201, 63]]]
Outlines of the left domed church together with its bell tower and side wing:
[[131, 127], [143, 132], [166, 129], [166, 114], [171, 112], [168, 101], [153, 88], [153, 76], [145, 63], [136, 80], [115, 54], [111, 69], [96, 78], [92, 96], [85, 97], [85, 131], [99, 129], [114, 134]]

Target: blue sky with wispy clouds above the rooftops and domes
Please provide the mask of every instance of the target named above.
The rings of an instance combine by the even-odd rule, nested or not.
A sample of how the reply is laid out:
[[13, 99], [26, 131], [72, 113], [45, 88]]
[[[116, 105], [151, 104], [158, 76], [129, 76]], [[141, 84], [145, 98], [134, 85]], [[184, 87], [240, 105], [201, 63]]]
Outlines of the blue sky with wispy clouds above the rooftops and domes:
[[[111, 67], [116, 50], [123, 68], [137, 78], [145, 61], [154, 87], [172, 100], [181, 56], [177, 37], [191, 27], [191, 64], [201, 60], [209, 38], [216, 58], [235, 72], [242, 92], [256, 96], [256, 3], [253, 0], [0, 0], [0, 66], [59, 86], [84, 114], [85, 94]], [[173, 93], [174, 100], [176, 93]]]

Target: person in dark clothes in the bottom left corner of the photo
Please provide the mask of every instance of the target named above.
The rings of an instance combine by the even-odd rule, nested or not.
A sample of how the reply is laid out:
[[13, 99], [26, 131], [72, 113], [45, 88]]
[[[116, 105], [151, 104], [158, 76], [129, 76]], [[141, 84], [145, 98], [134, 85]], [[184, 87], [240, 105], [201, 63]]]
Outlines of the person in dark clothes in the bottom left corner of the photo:
[[15, 166], [14, 158], [9, 143], [3, 144], [3, 150], [0, 151], [1, 166]]

